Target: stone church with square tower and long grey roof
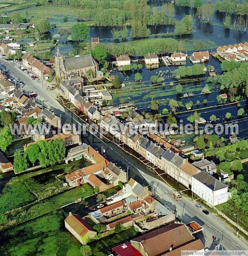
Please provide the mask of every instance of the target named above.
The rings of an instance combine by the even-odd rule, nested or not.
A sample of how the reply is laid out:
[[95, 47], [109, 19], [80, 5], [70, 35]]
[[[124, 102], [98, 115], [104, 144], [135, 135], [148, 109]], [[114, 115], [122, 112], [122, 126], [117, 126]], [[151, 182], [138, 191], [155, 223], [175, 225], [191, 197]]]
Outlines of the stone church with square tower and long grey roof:
[[92, 78], [92, 76], [95, 77], [96, 71], [98, 71], [98, 63], [92, 58], [91, 54], [65, 59], [60, 53], [59, 47], [57, 47], [55, 54], [55, 74], [57, 77], [68, 79], [69, 74], [73, 72], [80, 78]]

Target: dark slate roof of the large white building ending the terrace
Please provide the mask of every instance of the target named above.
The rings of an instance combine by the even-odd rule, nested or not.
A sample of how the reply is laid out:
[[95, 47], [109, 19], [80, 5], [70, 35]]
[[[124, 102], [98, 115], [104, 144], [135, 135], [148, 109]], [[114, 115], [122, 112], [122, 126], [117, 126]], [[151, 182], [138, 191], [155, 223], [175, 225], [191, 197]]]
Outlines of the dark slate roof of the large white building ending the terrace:
[[203, 183], [205, 186], [210, 188], [212, 191], [217, 191], [222, 188], [227, 188], [228, 185], [225, 185], [224, 183], [220, 182], [210, 174], [208, 174], [205, 171], [201, 171], [200, 173], [197, 173], [192, 176], [196, 180], [200, 181], [200, 183]]

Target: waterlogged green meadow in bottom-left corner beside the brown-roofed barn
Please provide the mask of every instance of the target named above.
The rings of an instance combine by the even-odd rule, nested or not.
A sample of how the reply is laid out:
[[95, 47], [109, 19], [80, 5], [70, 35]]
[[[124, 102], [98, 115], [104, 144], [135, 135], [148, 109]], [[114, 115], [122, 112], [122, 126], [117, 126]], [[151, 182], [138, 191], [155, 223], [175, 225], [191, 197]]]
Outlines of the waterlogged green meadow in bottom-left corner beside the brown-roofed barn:
[[66, 231], [61, 210], [0, 232], [0, 255], [80, 256], [81, 244]]

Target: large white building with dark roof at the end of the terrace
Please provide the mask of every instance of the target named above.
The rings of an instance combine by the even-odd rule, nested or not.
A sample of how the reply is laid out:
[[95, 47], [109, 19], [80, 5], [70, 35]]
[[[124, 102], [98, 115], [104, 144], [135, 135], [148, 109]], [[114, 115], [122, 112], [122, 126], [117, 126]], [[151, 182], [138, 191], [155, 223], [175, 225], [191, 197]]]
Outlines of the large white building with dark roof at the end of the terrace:
[[205, 171], [192, 176], [191, 190], [213, 206], [227, 202], [228, 199], [228, 186]]

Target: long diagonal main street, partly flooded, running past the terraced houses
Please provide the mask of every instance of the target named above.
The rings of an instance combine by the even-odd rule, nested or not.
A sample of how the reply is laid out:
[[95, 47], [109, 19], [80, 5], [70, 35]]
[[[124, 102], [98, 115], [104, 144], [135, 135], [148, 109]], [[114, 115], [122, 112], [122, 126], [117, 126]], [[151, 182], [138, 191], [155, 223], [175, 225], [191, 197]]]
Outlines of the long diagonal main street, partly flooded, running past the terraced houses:
[[[19, 77], [24, 83], [26, 83], [24, 89], [32, 88], [35, 93], [41, 95], [42, 99], [46, 99], [48, 104], [52, 106], [57, 115], [61, 115], [62, 122], [66, 123], [79, 123], [83, 122], [76, 115], [64, 109], [56, 100], [56, 95], [42, 88], [41, 83], [34, 82], [26, 73], [22, 72], [14, 66], [14, 63], [7, 63], [7, 69], [10, 72], [14, 72], [12, 75]], [[222, 219], [210, 213], [205, 215], [201, 210], [195, 207], [195, 203], [189, 198], [184, 197], [181, 201], [174, 200], [172, 193], [173, 189], [163, 183], [161, 180], [152, 173], [151, 169], [138, 161], [135, 157], [130, 156], [123, 151], [113, 142], [107, 139], [99, 139], [98, 135], [92, 135], [86, 132], [83, 137], [83, 141], [90, 144], [95, 149], [100, 151], [101, 146], [104, 146], [106, 150], [106, 157], [116, 163], [118, 166], [122, 166], [127, 169], [129, 166], [129, 177], [135, 178], [138, 182], [144, 185], [152, 185], [155, 190], [155, 195], [162, 200], [172, 210], [176, 210], [177, 217], [182, 218], [183, 222], [188, 223], [190, 221], [197, 221], [204, 227], [203, 233], [198, 234], [198, 237], [203, 241], [205, 248], [213, 249], [212, 236], [215, 235], [217, 240], [222, 243], [222, 231], [224, 231], [224, 249], [230, 250], [246, 250], [246, 242], [239, 239], [234, 233], [235, 230], [226, 224]], [[183, 213], [183, 216], [182, 216]], [[182, 216], [182, 217], [181, 217]]]

